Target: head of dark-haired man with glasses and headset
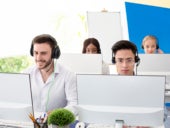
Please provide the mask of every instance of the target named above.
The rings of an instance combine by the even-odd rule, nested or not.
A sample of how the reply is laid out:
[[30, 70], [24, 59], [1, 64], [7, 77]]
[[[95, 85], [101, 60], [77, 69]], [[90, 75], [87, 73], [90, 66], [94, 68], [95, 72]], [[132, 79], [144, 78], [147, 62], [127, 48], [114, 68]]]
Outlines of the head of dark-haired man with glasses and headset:
[[116, 65], [119, 75], [134, 75], [136, 67], [140, 63], [135, 44], [127, 40], [120, 40], [112, 46], [112, 63]]

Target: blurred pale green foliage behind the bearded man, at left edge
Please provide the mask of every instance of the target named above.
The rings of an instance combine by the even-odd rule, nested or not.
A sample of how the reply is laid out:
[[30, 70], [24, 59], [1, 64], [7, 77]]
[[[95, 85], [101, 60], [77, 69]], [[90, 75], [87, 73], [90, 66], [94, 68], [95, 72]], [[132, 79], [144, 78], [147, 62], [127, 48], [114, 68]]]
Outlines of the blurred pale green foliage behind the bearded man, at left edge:
[[31, 59], [27, 56], [0, 58], [0, 72], [19, 73], [31, 64]]

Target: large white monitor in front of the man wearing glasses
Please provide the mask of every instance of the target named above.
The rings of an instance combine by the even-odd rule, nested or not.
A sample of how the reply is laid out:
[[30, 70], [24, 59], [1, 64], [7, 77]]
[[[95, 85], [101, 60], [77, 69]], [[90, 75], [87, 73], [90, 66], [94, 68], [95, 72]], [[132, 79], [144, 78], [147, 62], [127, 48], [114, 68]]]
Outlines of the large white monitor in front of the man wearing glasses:
[[85, 123], [162, 126], [164, 76], [77, 75], [79, 120]]

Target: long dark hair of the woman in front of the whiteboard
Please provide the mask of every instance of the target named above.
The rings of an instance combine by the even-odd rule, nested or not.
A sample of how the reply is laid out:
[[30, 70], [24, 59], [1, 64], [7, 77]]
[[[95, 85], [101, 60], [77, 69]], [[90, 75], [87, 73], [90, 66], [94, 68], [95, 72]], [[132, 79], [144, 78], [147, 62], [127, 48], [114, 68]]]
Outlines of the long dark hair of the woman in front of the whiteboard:
[[89, 44], [93, 44], [94, 46], [96, 46], [97, 53], [101, 53], [99, 41], [95, 38], [87, 38], [86, 40], [84, 40], [82, 53], [86, 53], [86, 48]]

